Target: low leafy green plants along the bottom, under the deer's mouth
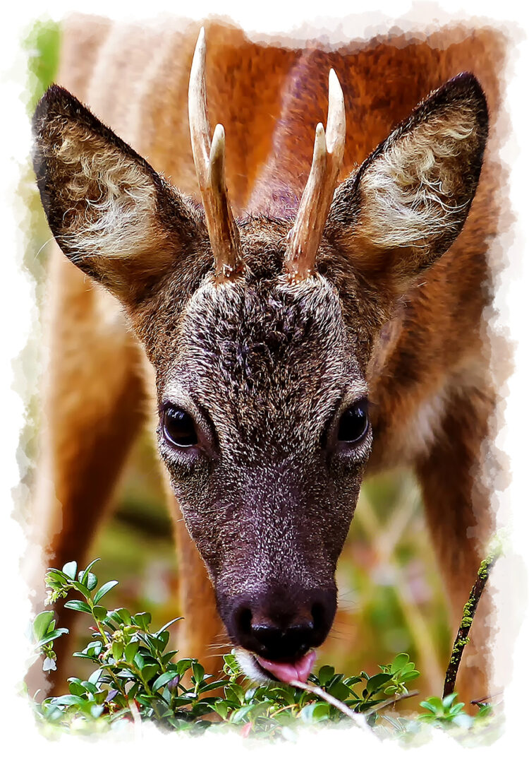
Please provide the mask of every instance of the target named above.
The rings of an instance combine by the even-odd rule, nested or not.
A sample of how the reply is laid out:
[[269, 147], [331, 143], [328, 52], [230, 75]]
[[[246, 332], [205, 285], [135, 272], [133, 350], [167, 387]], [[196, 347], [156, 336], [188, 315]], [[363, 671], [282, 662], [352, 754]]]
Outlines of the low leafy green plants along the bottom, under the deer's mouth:
[[[102, 604], [118, 581], [99, 585], [93, 572], [97, 561], [79, 572], [75, 562], [68, 562], [46, 574], [46, 603], [76, 594], [80, 598], [69, 598], [65, 606], [90, 616], [90, 641], [74, 657], [94, 666], [87, 679], [68, 679], [69, 694], [35, 705], [48, 729], [109, 730], [123, 721], [153, 720], [166, 730], [194, 734], [231, 727], [244, 736], [291, 739], [298, 727], [338, 720], [376, 727], [383, 709], [409, 696], [408, 683], [419, 675], [408, 654], [401, 653], [373, 676], [362, 671], [346, 677], [323, 665], [307, 684], [269, 682], [247, 688], [232, 653], [224, 657], [222, 679], [214, 679], [197, 660], [178, 660], [178, 651], [168, 650], [168, 629], [179, 618], [153, 632], [150, 613], [109, 610]], [[36, 616], [33, 637], [44, 670], [55, 669], [53, 643], [66, 633], [68, 629], [56, 628], [52, 612]], [[427, 713], [420, 720], [461, 726], [465, 719], [468, 726], [473, 724], [474, 718], [464, 714], [462, 703], [454, 705], [454, 698], [422, 702]], [[402, 720], [389, 719], [389, 724], [396, 733], [405, 733]]]

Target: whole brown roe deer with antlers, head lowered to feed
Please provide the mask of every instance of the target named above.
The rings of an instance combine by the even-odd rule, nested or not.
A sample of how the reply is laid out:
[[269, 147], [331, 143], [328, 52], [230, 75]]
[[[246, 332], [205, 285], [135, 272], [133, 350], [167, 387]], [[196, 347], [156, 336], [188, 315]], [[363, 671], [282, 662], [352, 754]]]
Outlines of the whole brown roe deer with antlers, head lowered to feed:
[[[74, 17], [74, 94], [36, 110], [64, 254], [36, 532], [52, 565], [86, 556], [154, 392], [186, 653], [217, 610], [247, 673], [306, 679], [366, 472], [417, 474], [455, 621], [490, 537], [502, 41], [291, 49], [210, 23], [191, 68], [197, 35]], [[467, 665], [483, 696], [483, 652]]]

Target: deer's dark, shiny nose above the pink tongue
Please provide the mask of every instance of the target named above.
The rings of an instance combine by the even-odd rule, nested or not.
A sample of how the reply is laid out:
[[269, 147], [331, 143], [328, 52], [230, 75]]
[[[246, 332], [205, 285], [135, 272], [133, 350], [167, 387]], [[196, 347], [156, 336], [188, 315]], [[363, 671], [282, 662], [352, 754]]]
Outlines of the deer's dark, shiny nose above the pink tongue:
[[239, 597], [232, 602], [228, 632], [236, 644], [274, 662], [294, 662], [329, 633], [336, 609], [335, 592]]

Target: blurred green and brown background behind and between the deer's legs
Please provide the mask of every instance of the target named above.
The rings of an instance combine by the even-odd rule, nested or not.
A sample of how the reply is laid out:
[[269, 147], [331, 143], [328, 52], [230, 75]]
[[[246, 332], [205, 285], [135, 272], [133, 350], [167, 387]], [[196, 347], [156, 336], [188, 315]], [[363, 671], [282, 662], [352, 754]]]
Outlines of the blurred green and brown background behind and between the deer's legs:
[[[24, 47], [28, 53], [30, 114], [53, 81], [60, 28], [46, 21], [33, 24]], [[29, 163], [22, 188], [31, 227], [25, 265], [35, 278], [36, 299], [42, 307], [50, 233]], [[31, 342], [28, 350], [35, 351]], [[35, 391], [28, 398], [28, 420], [32, 421], [24, 431], [23, 445], [25, 454], [34, 462], [39, 427], [39, 397]], [[31, 480], [30, 470], [28, 487]], [[95, 557], [102, 558], [99, 578], [120, 581], [109, 597], [110, 605], [125, 606], [133, 612], [149, 610], [155, 628], [178, 616], [178, 558], [162, 495], [159, 464], [147, 432], [134, 448], [114, 508], [90, 551], [90, 559]], [[420, 679], [413, 686], [417, 684], [422, 698], [440, 692], [452, 633], [420, 495], [409, 473], [390, 473], [364, 484], [338, 565], [338, 605], [320, 663], [331, 663], [348, 674], [359, 670], [372, 673], [378, 663], [389, 662], [399, 651], [406, 651], [420, 670]], [[77, 635], [87, 637], [82, 613], [79, 617]], [[76, 660], [77, 675], [80, 667], [81, 661]], [[417, 700], [410, 701], [407, 707], [416, 704]]]

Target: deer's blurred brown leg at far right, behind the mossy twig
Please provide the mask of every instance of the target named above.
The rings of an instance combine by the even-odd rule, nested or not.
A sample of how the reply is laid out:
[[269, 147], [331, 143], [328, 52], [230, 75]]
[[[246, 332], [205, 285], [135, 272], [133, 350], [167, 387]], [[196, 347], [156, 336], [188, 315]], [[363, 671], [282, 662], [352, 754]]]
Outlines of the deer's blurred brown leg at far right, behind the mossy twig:
[[[493, 410], [490, 394], [454, 394], [436, 442], [416, 466], [433, 546], [452, 612], [452, 641], [493, 531], [483, 444]], [[478, 606], [458, 672], [456, 691], [467, 705], [490, 689], [490, 594]], [[448, 662], [446, 663], [448, 666]], [[440, 691], [441, 685], [439, 686]]]

